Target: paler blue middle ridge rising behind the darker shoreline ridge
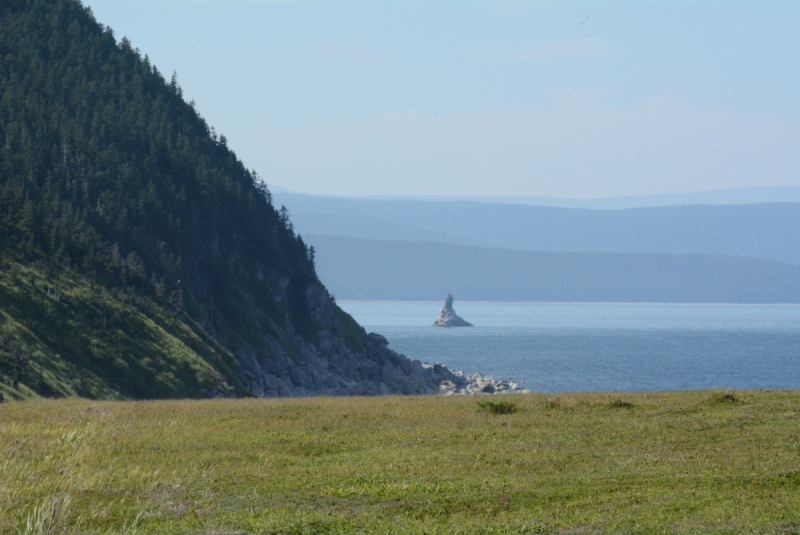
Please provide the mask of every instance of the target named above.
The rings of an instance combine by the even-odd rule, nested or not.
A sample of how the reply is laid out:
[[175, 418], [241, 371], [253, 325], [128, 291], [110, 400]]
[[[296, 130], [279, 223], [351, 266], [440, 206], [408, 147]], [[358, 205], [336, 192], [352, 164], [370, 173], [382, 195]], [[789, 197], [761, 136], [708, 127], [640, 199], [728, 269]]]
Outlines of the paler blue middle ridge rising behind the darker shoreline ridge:
[[800, 203], [592, 210], [286, 193], [275, 199], [303, 235], [527, 251], [729, 255], [800, 265]]

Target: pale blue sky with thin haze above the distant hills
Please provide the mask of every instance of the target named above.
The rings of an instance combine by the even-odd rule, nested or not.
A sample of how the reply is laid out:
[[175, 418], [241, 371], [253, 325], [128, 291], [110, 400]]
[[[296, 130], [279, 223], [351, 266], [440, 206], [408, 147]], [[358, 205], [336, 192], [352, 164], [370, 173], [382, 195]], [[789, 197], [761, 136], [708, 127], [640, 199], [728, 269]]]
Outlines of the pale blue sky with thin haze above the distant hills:
[[268, 184], [800, 186], [800, 2], [85, 0]]

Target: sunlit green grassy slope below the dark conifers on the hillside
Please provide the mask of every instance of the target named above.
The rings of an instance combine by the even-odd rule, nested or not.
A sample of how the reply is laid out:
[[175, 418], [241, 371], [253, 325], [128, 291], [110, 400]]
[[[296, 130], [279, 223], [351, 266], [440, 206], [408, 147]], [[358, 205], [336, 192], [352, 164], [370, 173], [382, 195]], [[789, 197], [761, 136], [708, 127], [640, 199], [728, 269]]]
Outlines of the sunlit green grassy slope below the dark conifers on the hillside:
[[0, 391], [12, 398], [245, 393], [234, 357], [184, 313], [72, 272], [5, 261], [0, 337]]

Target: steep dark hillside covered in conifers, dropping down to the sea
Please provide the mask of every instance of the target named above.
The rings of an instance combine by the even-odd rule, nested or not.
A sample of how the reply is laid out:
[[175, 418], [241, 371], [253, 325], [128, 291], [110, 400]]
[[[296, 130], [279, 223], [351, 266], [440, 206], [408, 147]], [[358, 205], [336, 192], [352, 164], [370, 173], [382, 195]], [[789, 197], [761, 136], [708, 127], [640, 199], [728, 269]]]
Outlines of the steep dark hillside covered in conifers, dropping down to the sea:
[[348, 393], [391, 356], [176, 77], [78, 0], [0, 3], [0, 262], [12, 397]]

